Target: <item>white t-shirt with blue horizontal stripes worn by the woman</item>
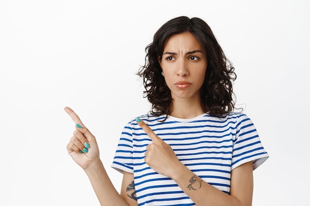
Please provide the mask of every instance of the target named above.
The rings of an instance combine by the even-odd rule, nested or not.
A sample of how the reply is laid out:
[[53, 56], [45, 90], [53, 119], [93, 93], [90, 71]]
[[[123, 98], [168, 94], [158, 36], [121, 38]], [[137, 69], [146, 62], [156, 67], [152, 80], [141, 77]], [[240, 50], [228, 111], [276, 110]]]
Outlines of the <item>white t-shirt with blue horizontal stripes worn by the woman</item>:
[[[139, 117], [169, 144], [179, 161], [196, 175], [224, 193], [230, 191], [231, 170], [253, 162], [257, 168], [268, 154], [262, 147], [252, 121], [243, 113], [228, 113], [224, 117], [208, 114], [192, 119], [168, 116]], [[144, 162], [151, 138], [136, 123], [130, 121], [121, 133], [112, 167], [134, 173], [139, 206], [195, 206], [195, 203], [171, 179], [158, 174]]]

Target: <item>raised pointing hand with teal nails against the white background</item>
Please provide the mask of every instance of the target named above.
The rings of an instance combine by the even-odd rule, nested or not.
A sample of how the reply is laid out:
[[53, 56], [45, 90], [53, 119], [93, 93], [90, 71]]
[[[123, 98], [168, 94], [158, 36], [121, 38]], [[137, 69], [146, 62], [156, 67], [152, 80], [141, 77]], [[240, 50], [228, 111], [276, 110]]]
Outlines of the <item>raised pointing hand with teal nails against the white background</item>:
[[67, 151], [71, 158], [84, 170], [92, 164], [100, 163], [99, 148], [95, 136], [84, 126], [80, 118], [69, 107], [64, 110], [76, 124]]

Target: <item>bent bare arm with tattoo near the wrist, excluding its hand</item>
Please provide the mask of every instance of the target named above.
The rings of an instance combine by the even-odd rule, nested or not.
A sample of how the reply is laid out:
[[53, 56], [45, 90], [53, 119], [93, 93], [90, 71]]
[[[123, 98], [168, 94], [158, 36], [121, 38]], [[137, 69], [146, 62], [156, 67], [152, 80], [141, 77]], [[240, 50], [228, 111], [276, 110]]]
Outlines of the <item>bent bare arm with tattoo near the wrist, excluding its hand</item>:
[[171, 178], [197, 206], [252, 206], [252, 161], [231, 171], [230, 195], [209, 185], [183, 164], [175, 171]]

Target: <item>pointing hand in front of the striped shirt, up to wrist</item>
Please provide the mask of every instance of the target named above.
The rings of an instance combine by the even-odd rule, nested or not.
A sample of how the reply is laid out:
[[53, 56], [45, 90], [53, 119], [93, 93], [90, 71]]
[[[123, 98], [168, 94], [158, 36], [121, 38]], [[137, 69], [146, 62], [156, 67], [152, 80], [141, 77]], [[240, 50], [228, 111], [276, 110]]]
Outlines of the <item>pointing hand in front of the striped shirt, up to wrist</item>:
[[[140, 121], [140, 122], [139, 122]], [[142, 120], [137, 119], [137, 123], [152, 139], [152, 143], [147, 146], [144, 161], [159, 174], [172, 178], [177, 168], [183, 165], [176, 157], [174, 151]]]

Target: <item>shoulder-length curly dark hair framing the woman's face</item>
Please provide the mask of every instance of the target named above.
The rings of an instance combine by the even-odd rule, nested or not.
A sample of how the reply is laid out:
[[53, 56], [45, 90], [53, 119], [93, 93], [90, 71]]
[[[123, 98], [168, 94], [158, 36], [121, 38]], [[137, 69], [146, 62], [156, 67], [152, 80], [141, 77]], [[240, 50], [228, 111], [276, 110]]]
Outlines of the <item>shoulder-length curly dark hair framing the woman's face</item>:
[[224, 55], [205, 21], [180, 16], [163, 24], [155, 33], [153, 42], [146, 47], [145, 65], [137, 73], [143, 79], [146, 89], [144, 97], [152, 104], [151, 114], [158, 117], [172, 112], [171, 92], [161, 75], [158, 58], [161, 59], [168, 38], [183, 32], [190, 32], [207, 51], [207, 72], [201, 89], [203, 110], [217, 117], [233, 111], [235, 102], [232, 82], [237, 76], [232, 63]]

